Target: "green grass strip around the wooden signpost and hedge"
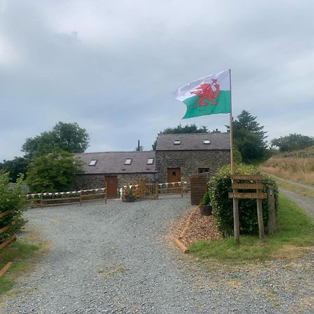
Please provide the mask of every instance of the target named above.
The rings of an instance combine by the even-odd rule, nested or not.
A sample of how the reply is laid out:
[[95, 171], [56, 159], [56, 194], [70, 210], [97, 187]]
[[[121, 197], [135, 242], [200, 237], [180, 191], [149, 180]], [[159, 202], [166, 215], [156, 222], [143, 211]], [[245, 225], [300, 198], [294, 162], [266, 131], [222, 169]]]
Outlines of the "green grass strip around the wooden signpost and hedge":
[[197, 241], [188, 249], [199, 259], [214, 258], [220, 261], [249, 262], [270, 258], [301, 257], [314, 250], [313, 219], [294, 203], [280, 195], [276, 232], [260, 241], [258, 237], [240, 236], [241, 244], [233, 238], [216, 241]]

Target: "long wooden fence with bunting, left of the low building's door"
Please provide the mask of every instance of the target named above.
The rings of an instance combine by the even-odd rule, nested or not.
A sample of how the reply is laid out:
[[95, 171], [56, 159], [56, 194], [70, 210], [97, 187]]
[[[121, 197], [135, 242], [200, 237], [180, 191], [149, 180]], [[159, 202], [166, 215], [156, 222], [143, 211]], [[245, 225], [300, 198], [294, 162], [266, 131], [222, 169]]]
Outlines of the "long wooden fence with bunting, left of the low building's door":
[[73, 190], [70, 192], [28, 194], [31, 207], [49, 207], [57, 205], [80, 204], [94, 200], [105, 200], [107, 204], [107, 187], [91, 190]]

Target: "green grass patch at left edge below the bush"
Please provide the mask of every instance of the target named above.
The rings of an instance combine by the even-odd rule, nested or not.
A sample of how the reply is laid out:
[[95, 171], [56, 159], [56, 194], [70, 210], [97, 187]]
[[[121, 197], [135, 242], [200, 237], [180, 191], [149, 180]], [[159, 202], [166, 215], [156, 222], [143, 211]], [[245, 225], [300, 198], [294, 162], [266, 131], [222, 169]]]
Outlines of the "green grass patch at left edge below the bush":
[[7, 262], [13, 262], [6, 274], [0, 277], [0, 295], [13, 288], [15, 278], [27, 269], [38, 248], [39, 246], [33, 244], [15, 241], [0, 251], [0, 269]]

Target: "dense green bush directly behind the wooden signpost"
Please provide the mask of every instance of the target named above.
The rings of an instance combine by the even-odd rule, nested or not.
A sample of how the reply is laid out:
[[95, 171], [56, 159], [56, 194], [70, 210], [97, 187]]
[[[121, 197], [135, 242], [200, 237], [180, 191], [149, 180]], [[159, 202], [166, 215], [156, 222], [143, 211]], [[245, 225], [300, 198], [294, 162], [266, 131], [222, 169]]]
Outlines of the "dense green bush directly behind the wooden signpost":
[[[237, 165], [235, 174], [259, 174], [257, 169], [249, 165]], [[278, 209], [278, 187], [276, 182], [266, 175], [262, 176], [263, 192], [267, 192], [269, 186], [274, 186], [275, 209]], [[247, 182], [248, 183], [248, 182]], [[232, 192], [230, 165], [220, 168], [216, 175], [208, 182], [209, 195], [213, 214], [217, 221], [217, 227], [225, 236], [230, 236], [234, 232], [233, 202], [228, 197]], [[243, 192], [255, 192], [254, 190], [241, 190]], [[268, 204], [267, 200], [262, 200], [264, 227], [267, 228]], [[257, 204], [256, 200], [239, 200], [239, 223], [241, 234], [258, 234], [257, 224]]]

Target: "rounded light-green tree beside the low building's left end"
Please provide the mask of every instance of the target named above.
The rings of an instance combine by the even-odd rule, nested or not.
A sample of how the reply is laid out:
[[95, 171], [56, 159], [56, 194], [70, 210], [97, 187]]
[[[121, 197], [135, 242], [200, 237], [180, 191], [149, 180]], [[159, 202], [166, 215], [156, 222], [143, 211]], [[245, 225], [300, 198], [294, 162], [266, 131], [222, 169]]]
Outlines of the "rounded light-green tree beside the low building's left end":
[[27, 172], [27, 185], [32, 192], [61, 192], [75, 183], [82, 164], [68, 151], [54, 150], [32, 158]]

